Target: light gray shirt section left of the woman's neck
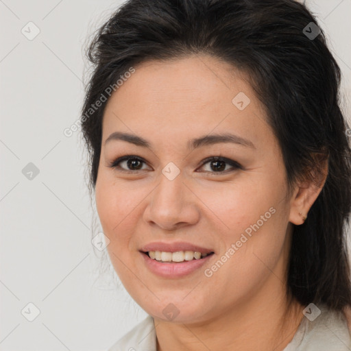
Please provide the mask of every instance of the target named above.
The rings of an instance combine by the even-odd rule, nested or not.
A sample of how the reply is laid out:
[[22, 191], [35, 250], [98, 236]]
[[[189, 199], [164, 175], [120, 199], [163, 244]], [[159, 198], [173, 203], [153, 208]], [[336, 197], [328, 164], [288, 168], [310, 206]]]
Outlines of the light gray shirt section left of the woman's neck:
[[108, 351], [156, 351], [156, 331], [154, 318], [148, 315], [143, 321], [134, 326], [121, 339], [114, 343]]

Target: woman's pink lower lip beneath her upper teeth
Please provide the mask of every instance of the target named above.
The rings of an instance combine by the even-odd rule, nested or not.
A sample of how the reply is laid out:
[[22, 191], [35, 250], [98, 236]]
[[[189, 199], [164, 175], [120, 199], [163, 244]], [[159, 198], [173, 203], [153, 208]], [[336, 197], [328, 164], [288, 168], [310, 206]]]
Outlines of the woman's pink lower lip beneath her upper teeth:
[[141, 252], [141, 255], [145, 260], [147, 268], [149, 268], [152, 273], [164, 278], [180, 278], [187, 276], [188, 274], [193, 273], [193, 271], [201, 268], [212, 258], [212, 256], [214, 256], [214, 254], [210, 254], [204, 258], [199, 258], [198, 260], [194, 258], [192, 261], [184, 261], [180, 263], [162, 263], [149, 258], [149, 256], [143, 252]]

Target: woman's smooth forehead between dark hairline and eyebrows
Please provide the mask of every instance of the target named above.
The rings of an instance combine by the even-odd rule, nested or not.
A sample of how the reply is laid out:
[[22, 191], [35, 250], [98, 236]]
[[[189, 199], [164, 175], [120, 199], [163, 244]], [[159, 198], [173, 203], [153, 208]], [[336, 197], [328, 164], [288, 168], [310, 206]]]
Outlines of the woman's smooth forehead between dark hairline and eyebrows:
[[[105, 138], [113, 129], [190, 135], [220, 128], [245, 134], [255, 120], [263, 119], [263, 106], [247, 76], [227, 62], [190, 56], [143, 62], [134, 69], [108, 101]], [[244, 109], [237, 106], [238, 96]]]

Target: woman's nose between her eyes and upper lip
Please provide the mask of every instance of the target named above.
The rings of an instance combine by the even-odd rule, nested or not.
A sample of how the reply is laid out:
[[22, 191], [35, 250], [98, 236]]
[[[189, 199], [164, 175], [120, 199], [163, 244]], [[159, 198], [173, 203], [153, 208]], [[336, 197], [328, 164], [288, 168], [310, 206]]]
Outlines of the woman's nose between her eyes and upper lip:
[[162, 230], [176, 230], [197, 223], [198, 198], [190, 188], [184, 183], [182, 173], [173, 180], [161, 174], [158, 186], [148, 197], [144, 220]]

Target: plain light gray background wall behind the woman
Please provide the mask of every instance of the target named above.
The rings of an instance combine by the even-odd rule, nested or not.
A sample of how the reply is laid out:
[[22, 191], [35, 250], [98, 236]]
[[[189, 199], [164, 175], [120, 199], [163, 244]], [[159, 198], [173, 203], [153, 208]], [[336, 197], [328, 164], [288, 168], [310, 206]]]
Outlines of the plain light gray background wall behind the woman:
[[[121, 2], [0, 0], [0, 350], [106, 350], [146, 316], [110, 266], [100, 272], [80, 133], [63, 134], [80, 115], [86, 38]], [[341, 66], [350, 117], [351, 0], [307, 3]], [[21, 32], [35, 33], [29, 21], [33, 40]]]

